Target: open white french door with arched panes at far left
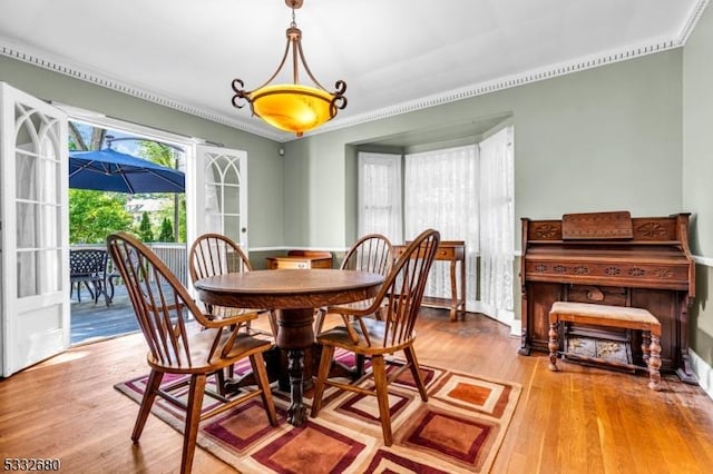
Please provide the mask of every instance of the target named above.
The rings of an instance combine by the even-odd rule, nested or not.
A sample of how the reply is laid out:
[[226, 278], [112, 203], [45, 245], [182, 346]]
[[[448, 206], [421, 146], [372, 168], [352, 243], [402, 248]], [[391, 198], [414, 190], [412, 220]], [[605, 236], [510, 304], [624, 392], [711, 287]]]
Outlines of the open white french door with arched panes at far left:
[[67, 116], [0, 82], [0, 366], [69, 347]]

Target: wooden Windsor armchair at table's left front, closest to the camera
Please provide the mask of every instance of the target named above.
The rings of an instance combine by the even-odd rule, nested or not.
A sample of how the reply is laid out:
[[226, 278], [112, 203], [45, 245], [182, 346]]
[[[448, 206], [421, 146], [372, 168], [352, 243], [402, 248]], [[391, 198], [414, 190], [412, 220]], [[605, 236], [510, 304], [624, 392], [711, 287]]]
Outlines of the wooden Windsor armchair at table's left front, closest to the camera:
[[[270, 424], [275, 426], [277, 416], [263, 359], [263, 353], [272, 344], [238, 332], [240, 316], [207, 318], [170, 269], [136, 237], [126, 233], [111, 234], [107, 237], [107, 248], [126, 284], [149, 348], [150, 375], [131, 434], [134, 443], [141, 436], [156, 396], [186, 411], [182, 473], [191, 472], [198, 424], [203, 419], [260, 396]], [[191, 327], [189, 317], [195, 318], [203, 330]], [[243, 391], [231, 398], [206, 389], [206, 377], [245, 357], [250, 358], [256, 374], [257, 389]], [[174, 395], [176, 388], [186, 385], [183, 379], [162, 387], [166, 374], [186, 376], [186, 403]], [[202, 414], [204, 395], [222, 403]]]

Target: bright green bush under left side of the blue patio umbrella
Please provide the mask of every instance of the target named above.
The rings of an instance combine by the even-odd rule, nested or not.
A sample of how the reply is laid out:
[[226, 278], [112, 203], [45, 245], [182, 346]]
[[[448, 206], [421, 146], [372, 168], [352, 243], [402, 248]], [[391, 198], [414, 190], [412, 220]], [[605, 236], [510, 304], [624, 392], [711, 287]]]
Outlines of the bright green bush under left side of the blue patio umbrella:
[[125, 206], [126, 195], [70, 189], [69, 243], [104, 244], [109, 234], [130, 230], [131, 215]]

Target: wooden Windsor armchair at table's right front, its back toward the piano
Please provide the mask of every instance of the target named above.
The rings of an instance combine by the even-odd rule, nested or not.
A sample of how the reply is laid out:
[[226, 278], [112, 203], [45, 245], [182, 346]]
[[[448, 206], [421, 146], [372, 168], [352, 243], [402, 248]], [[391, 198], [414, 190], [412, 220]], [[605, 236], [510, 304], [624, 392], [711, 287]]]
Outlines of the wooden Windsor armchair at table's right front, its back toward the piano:
[[[421, 399], [428, 401], [413, 348], [414, 325], [439, 241], [440, 234], [437, 230], [428, 229], [421, 233], [393, 264], [379, 294], [369, 307], [356, 309], [354, 306], [333, 306], [330, 308], [331, 313], [354, 316], [355, 318], [354, 320], [344, 319], [343, 325], [318, 335], [316, 340], [322, 347], [322, 356], [314, 386], [311, 416], [319, 415], [326, 385], [374, 395], [379, 404], [383, 442], [387, 446], [391, 446], [393, 438], [389, 415], [389, 383], [409, 368]], [[378, 310], [381, 312], [382, 320], [363, 317]], [[350, 385], [328, 378], [336, 347], [352, 352], [358, 356], [371, 357], [373, 391], [363, 385]], [[406, 363], [387, 376], [384, 355], [391, 355], [398, 350], [403, 350]]]

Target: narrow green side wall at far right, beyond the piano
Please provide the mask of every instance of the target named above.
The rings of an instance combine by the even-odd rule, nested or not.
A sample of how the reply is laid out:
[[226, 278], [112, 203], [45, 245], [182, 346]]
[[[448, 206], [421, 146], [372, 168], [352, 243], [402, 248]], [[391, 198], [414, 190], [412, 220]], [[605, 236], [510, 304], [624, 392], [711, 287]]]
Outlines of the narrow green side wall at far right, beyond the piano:
[[[694, 213], [691, 247], [700, 256], [691, 310], [691, 347], [713, 365], [713, 10], [688, 38], [683, 58], [683, 204]], [[711, 381], [713, 382], [713, 381]]]

